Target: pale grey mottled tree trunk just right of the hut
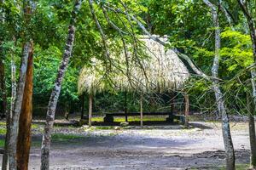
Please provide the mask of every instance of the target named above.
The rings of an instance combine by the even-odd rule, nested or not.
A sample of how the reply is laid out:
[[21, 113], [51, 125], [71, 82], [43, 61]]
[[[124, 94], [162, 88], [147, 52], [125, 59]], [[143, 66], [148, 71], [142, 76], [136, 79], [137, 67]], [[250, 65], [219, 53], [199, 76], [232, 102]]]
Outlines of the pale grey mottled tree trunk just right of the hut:
[[226, 108], [224, 105], [224, 95], [221, 92], [221, 89], [218, 84], [218, 67], [219, 67], [219, 50], [220, 50], [220, 28], [218, 24], [218, 8], [215, 7], [208, 0], [204, 0], [204, 3], [207, 4], [209, 8], [212, 10], [212, 20], [213, 25], [215, 27], [215, 56], [213, 59], [212, 65], [212, 77], [214, 78], [212, 81], [212, 88], [215, 94], [216, 102], [218, 105], [218, 112], [222, 116], [222, 133], [224, 139], [224, 148], [226, 155], [226, 169], [234, 170], [235, 167], [235, 151], [230, 133], [230, 120], [229, 116], [226, 112]]

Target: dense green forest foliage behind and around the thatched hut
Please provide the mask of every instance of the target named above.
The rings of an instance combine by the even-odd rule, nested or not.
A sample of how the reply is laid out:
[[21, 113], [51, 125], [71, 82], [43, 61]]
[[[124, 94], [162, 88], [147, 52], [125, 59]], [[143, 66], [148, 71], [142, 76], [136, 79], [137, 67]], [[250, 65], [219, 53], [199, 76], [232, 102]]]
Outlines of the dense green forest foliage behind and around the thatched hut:
[[[101, 2], [98, 2], [101, 3]], [[114, 2], [113, 2], [114, 3]], [[150, 33], [160, 36], [168, 36], [173, 47], [178, 48], [184, 54], [188, 54], [202, 71], [210, 74], [212, 56], [214, 55], [214, 27], [212, 16], [208, 8], [201, 1], [126, 1], [131, 14], [137, 15]], [[246, 21], [239, 12], [239, 6], [232, 2], [224, 3], [229, 8], [233, 27], [230, 28], [225, 15], [220, 14], [222, 27], [222, 48], [219, 77], [223, 80], [221, 87], [224, 89], [226, 104], [229, 105], [230, 114], [243, 114], [242, 105], [245, 105], [247, 82], [249, 75], [241, 71], [253, 63], [251, 41], [247, 35]], [[6, 24], [1, 26], [3, 38], [2, 57], [5, 65], [5, 83], [8, 101], [11, 96], [11, 58], [15, 59], [15, 65], [20, 63], [22, 34], [27, 29], [34, 40], [34, 89], [33, 89], [33, 114], [45, 115], [49, 95], [55, 82], [55, 72], [61, 61], [61, 51], [67, 35], [69, 15], [73, 9], [72, 1], [39, 1], [37, 9], [32, 14], [32, 22], [29, 25], [23, 23], [19, 5], [5, 1], [3, 7], [7, 9]], [[102, 11], [96, 11], [98, 20], [102, 24], [105, 34], [115, 48], [119, 47], [119, 32], [113, 30], [104, 19]], [[134, 23], [130, 28], [128, 20], [122, 19], [119, 14], [109, 14], [113, 23], [121, 29], [132, 29], [137, 35], [143, 31]], [[123, 22], [123, 23], [122, 23]], [[67, 73], [61, 89], [61, 97], [58, 103], [57, 115], [69, 111], [80, 111], [79, 94], [77, 83], [79, 71], [84, 65], [90, 65], [90, 59], [96, 57], [103, 59], [104, 48], [99, 31], [96, 29], [94, 20], [89, 12], [88, 4], [82, 7], [77, 24], [73, 57], [69, 63]], [[15, 41], [13, 41], [15, 39]], [[131, 38], [126, 37], [127, 42]], [[184, 61], [185, 62], [185, 61]], [[186, 63], [185, 63], [186, 64]], [[18, 74], [16, 75], [18, 77]], [[189, 90], [190, 106], [192, 111], [214, 112], [216, 111], [215, 99], [211, 86], [201, 78], [192, 77], [186, 87]], [[145, 99], [146, 110], [154, 111], [159, 108], [168, 109], [168, 94], [148, 94]], [[128, 94], [128, 109], [138, 110], [136, 94]], [[177, 96], [178, 97], [178, 96]], [[179, 96], [180, 98], [181, 96]], [[2, 98], [1, 98], [2, 99]], [[125, 95], [118, 92], [97, 94], [95, 110], [122, 111]], [[182, 99], [177, 99], [177, 110], [182, 109]], [[85, 105], [86, 109], [87, 105]], [[111, 109], [110, 109], [111, 108]], [[59, 113], [58, 113], [59, 112]]]

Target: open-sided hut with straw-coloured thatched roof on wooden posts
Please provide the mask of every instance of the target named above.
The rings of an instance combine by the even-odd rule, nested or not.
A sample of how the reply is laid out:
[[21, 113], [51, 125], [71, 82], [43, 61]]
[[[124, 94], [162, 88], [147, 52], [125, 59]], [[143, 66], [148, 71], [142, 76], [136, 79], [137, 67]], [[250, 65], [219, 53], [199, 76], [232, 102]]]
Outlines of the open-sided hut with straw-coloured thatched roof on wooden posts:
[[[84, 66], [82, 69], [78, 89], [79, 94], [87, 93], [90, 96], [89, 125], [91, 125], [92, 95], [96, 92], [113, 89], [141, 92], [140, 116], [143, 125], [143, 93], [174, 91], [182, 88], [188, 80], [189, 71], [175, 52], [171, 49], [166, 50], [159, 42], [147, 36], [139, 39], [142, 42], [141, 51], [145, 56], [143, 59], [137, 60], [132, 56], [131, 51], [126, 54], [123, 51], [117, 56], [112, 56], [119, 67], [112, 67], [107, 73], [102, 61], [98, 59], [92, 59], [92, 65]], [[167, 41], [165, 37], [160, 39]], [[185, 100], [188, 101], [186, 98]], [[188, 112], [188, 108], [185, 111]]]

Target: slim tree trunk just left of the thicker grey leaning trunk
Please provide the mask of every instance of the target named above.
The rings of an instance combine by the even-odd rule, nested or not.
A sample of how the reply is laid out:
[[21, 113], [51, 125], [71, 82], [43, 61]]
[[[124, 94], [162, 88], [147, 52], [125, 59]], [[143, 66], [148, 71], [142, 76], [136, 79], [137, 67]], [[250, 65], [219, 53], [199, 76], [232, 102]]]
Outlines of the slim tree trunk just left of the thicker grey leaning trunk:
[[8, 159], [8, 147], [9, 147], [9, 132], [10, 132], [10, 122], [12, 119], [12, 111], [15, 107], [15, 99], [16, 99], [16, 66], [15, 66], [15, 59], [14, 55], [12, 54], [11, 57], [11, 82], [12, 82], [12, 96], [11, 96], [11, 105], [10, 111], [7, 112], [6, 115], [6, 134], [5, 134], [5, 142], [4, 142], [4, 154], [3, 154], [3, 161], [2, 161], [2, 170], [7, 170], [9, 167], [9, 159]]

